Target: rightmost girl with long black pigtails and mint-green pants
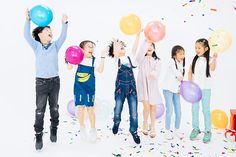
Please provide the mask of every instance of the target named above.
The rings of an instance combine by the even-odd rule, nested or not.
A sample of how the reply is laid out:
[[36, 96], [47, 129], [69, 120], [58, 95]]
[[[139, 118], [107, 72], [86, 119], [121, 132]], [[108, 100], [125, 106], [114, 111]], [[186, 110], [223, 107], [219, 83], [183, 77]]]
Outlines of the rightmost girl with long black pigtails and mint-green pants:
[[[199, 39], [195, 43], [196, 56], [189, 68], [189, 80], [199, 85], [202, 90], [202, 111], [204, 115], [205, 133], [203, 142], [211, 141], [211, 114], [210, 114], [210, 97], [211, 97], [211, 73], [216, 68], [217, 54], [213, 54], [210, 61], [210, 47], [206, 39]], [[192, 126], [193, 130], [190, 139], [194, 140], [200, 133], [199, 129], [199, 102], [192, 104]]]

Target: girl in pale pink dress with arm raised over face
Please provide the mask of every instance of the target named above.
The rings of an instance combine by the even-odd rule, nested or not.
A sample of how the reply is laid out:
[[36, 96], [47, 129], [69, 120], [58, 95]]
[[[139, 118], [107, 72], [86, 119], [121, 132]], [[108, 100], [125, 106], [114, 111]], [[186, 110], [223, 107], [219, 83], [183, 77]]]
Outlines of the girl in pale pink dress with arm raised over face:
[[[136, 41], [139, 38], [139, 34], [136, 37]], [[136, 51], [133, 52], [135, 55]], [[136, 62], [139, 65], [137, 78], [138, 101], [143, 103], [143, 134], [148, 135], [148, 116], [150, 114], [150, 137], [154, 138], [156, 136], [156, 105], [162, 102], [158, 87], [161, 62], [156, 55], [155, 44], [145, 41], [136, 56]]]

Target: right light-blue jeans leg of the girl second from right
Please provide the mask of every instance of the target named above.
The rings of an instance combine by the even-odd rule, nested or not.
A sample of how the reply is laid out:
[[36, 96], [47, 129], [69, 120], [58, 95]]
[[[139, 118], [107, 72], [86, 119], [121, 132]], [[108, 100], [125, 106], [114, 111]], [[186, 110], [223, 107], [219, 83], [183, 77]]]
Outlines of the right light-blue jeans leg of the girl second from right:
[[180, 105], [180, 97], [178, 94], [173, 95], [173, 104], [175, 111], [175, 129], [179, 129], [181, 120], [181, 105]]

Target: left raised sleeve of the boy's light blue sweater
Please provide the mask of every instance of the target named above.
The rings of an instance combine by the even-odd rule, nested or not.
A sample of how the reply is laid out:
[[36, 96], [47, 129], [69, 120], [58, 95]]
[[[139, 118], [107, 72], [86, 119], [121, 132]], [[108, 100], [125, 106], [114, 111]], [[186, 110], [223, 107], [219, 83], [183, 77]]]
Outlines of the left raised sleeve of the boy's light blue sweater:
[[30, 21], [26, 20], [25, 21], [25, 26], [24, 26], [24, 37], [28, 44], [31, 46], [33, 50], [36, 50], [38, 42], [32, 37], [30, 33]]

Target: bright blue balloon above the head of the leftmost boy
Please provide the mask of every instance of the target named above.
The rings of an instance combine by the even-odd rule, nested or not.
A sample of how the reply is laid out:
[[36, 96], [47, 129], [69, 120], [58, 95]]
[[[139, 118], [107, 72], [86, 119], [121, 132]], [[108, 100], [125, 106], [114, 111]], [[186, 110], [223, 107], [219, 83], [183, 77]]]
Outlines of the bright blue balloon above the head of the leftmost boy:
[[51, 23], [53, 14], [49, 7], [44, 5], [36, 5], [30, 9], [30, 19], [36, 25], [44, 27]]

